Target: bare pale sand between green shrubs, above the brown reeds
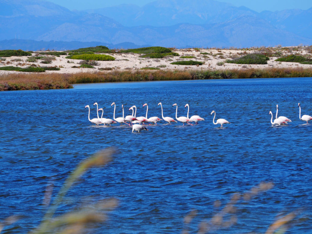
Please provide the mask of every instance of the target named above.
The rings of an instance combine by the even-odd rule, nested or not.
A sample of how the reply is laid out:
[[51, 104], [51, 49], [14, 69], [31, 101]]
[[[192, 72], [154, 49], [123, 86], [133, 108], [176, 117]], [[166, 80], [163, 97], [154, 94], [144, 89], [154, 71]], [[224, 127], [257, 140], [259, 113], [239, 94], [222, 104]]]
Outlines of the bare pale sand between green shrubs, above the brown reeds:
[[[305, 55], [308, 53], [306, 47], [288, 47], [295, 48], [295, 50], [280, 50], [282, 52], [282, 56], [296, 54], [296, 55]], [[77, 72], [90, 72], [94, 73], [99, 71], [98, 68], [111, 68], [112, 70], [139, 70], [144, 67], [159, 67], [161, 70], [187, 70], [187, 69], [199, 69], [199, 70], [226, 70], [226, 69], [250, 69], [250, 68], [312, 68], [312, 65], [293, 63], [293, 62], [277, 62], [275, 59], [278, 57], [270, 57], [268, 64], [265, 65], [241, 65], [241, 64], [231, 64], [224, 63], [223, 65], [217, 65], [218, 62], [224, 62], [226, 59], [231, 59], [234, 56], [243, 56], [249, 53], [255, 53], [259, 50], [241, 50], [241, 49], [200, 49], [200, 51], [196, 51], [194, 49], [176, 49], [174, 52], [177, 52], [180, 56], [195, 56], [192, 59], [183, 59], [180, 56], [172, 56], [166, 57], [162, 59], [151, 59], [151, 58], [142, 58], [141, 54], [134, 53], [116, 53], [109, 54], [115, 57], [115, 61], [98, 61], [100, 66], [94, 66], [95, 68], [72, 68], [72, 66], [80, 66], [78, 64], [80, 60], [76, 59], [66, 59], [66, 55], [62, 55], [60, 57], [53, 57], [51, 64], [42, 64], [41, 60], [37, 60], [37, 62], [27, 62], [28, 56], [20, 56], [20, 57], [8, 57], [5, 61], [0, 61], [0, 67], [2, 66], [19, 66], [19, 67], [28, 67], [28, 66], [57, 66], [60, 71], [46, 71], [46, 73], [77, 73]], [[208, 53], [208, 54], [202, 54]], [[35, 56], [37, 52], [34, 52], [32, 55]], [[38, 55], [37, 55], [38, 56]], [[40, 55], [42, 56], [42, 55]], [[22, 61], [13, 61], [15, 59], [22, 59]], [[185, 65], [172, 65], [171, 62], [181, 61], [181, 60], [195, 60], [205, 62], [201, 66], [185, 66]], [[2, 71], [0, 70], [0, 75], [9, 74], [9, 73], [21, 73], [18, 71]]]

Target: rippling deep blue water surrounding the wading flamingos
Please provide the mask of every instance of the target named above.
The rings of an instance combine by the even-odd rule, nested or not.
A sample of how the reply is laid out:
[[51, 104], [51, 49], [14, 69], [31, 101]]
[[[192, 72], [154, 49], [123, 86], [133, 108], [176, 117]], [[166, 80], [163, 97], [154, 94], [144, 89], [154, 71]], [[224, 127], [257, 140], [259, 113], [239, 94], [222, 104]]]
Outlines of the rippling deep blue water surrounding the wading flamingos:
[[[148, 132], [132, 133], [127, 125], [95, 126], [96, 108], [104, 117], [131, 114], [149, 117], [200, 115], [194, 126], [159, 122]], [[181, 233], [183, 219], [197, 215], [187, 227], [197, 233], [230, 201], [261, 182], [274, 183], [249, 201], [239, 200], [236, 224], [209, 233], [264, 233], [281, 213], [296, 212], [286, 233], [312, 233], [312, 78], [156, 81], [75, 85], [70, 90], [0, 92], [0, 220], [22, 215], [2, 233], [27, 233], [41, 222], [46, 186], [53, 197], [78, 163], [107, 147], [118, 153], [103, 168], [87, 172], [66, 195], [56, 213], [76, 210], [82, 203], [115, 197], [119, 205], [109, 220], [88, 233]], [[292, 120], [272, 126], [269, 111]], [[231, 122], [223, 128], [217, 118]], [[221, 202], [214, 207], [214, 202]], [[93, 228], [93, 229], [91, 229]], [[92, 231], [91, 231], [92, 230]]]

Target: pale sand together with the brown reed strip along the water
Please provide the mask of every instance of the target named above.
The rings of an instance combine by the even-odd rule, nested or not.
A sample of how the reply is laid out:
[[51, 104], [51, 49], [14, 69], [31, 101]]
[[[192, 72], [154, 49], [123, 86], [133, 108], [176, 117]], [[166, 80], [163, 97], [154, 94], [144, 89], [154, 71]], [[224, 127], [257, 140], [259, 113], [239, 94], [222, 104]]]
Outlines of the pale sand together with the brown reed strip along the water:
[[[46, 56], [51, 59], [50, 64], [42, 64], [40, 59], [35, 62], [27, 62], [28, 56], [12, 56], [2, 58], [2, 60], [0, 58], [0, 67], [51, 66], [60, 70], [42, 73], [0, 70], [0, 90], [63, 89], [72, 88], [73, 84], [98, 82], [312, 77], [312, 65], [310, 64], [275, 61], [275, 59], [287, 55], [304, 55], [312, 58], [310, 47], [173, 48], [173, 52], [178, 53], [179, 56], [158, 59], [143, 58], [140, 57], [142, 54], [136, 53], [109, 53], [107, 55], [113, 56], [115, 61], [96, 61], [98, 65], [95, 65], [94, 68], [80, 68], [81, 60], [66, 59], [66, 55]], [[36, 56], [37, 53], [38, 51], [32, 52], [32, 56]], [[270, 54], [271, 57], [267, 64], [225, 63], [227, 59], [252, 53]], [[192, 56], [192, 58], [181, 58], [182, 56]], [[193, 66], [171, 64], [171, 62], [189, 60], [199, 61], [203, 64]]]

